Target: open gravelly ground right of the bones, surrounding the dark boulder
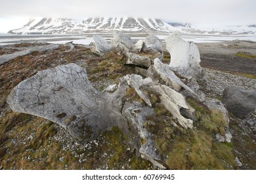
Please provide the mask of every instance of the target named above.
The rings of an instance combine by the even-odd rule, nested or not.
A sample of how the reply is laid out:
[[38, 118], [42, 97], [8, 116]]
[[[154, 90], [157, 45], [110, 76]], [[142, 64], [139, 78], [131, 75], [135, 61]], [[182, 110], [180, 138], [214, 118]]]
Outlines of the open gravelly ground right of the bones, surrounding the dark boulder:
[[[197, 44], [205, 68], [199, 80], [203, 92], [222, 100], [224, 88], [240, 86], [256, 90], [256, 44], [250, 41], [227, 41]], [[230, 132], [242, 169], [256, 169], [256, 111], [243, 120], [230, 113]], [[251, 162], [251, 163], [249, 163]]]

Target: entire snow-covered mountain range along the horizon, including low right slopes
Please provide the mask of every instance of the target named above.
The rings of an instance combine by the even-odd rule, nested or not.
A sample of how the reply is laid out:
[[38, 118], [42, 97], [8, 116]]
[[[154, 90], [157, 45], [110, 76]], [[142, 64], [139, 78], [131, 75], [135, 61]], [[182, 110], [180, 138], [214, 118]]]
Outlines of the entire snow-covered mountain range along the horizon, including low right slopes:
[[256, 35], [256, 25], [244, 26], [196, 26], [188, 23], [164, 22], [155, 18], [87, 18], [74, 20], [69, 18], [34, 18], [20, 29], [9, 33], [14, 34], [79, 34], [89, 32], [112, 32], [114, 29], [121, 31], [137, 32], [173, 32], [181, 31], [188, 34], [209, 35]]

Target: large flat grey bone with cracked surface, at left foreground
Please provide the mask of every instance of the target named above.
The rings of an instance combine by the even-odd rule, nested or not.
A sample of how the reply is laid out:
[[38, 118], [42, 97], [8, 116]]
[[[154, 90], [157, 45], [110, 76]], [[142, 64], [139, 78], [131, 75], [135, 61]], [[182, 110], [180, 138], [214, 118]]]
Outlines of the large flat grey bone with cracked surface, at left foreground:
[[104, 101], [86, 71], [74, 63], [39, 71], [7, 99], [12, 110], [56, 122], [78, 141], [95, 139], [119, 118]]

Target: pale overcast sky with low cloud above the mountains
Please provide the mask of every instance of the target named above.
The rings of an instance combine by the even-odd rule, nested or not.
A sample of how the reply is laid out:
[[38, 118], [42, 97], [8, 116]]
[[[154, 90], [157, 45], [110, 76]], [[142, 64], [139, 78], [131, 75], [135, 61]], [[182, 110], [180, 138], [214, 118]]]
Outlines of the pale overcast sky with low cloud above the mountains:
[[256, 24], [255, 0], [0, 0], [0, 32], [30, 18], [95, 16], [161, 18], [192, 24]]

